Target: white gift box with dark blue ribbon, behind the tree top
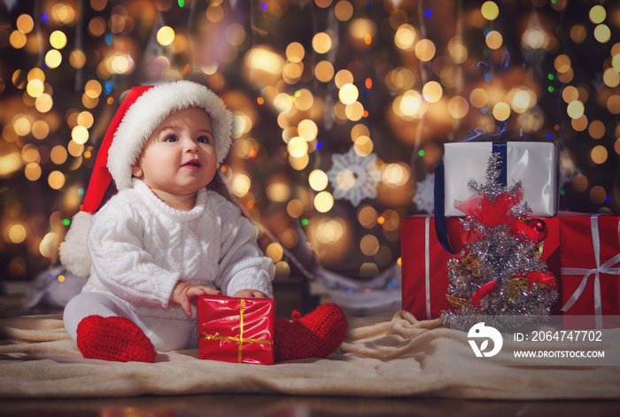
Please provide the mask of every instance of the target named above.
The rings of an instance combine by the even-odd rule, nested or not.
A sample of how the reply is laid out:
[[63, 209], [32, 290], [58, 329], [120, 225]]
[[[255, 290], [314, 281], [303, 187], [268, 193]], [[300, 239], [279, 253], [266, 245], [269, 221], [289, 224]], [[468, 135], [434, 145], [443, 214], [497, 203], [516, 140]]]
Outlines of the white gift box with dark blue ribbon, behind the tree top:
[[[529, 216], [551, 217], [558, 205], [558, 149], [554, 143], [506, 142], [507, 184], [522, 181], [523, 201], [531, 207]], [[446, 216], [465, 213], [454, 208], [473, 194], [470, 179], [485, 182], [486, 167], [492, 154], [492, 142], [444, 144]]]

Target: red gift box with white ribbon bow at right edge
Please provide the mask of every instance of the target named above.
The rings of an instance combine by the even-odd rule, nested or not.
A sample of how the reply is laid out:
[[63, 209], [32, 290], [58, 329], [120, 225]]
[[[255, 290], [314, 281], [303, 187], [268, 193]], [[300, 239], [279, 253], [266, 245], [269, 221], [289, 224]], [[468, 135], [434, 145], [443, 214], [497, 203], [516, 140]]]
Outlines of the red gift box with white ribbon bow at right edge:
[[562, 312], [620, 315], [620, 216], [581, 214], [560, 221]]

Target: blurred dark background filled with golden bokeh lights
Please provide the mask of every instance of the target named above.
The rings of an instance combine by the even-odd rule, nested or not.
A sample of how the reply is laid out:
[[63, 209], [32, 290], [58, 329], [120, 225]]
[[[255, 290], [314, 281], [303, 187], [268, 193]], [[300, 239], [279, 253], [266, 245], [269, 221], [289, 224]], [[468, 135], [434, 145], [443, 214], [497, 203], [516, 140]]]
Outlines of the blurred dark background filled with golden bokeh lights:
[[186, 79], [235, 114], [213, 188], [277, 282], [398, 305], [400, 221], [475, 128], [556, 143], [560, 209], [619, 212], [618, 27], [591, 0], [4, 0], [0, 276], [69, 278], [58, 244], [123, 94]]

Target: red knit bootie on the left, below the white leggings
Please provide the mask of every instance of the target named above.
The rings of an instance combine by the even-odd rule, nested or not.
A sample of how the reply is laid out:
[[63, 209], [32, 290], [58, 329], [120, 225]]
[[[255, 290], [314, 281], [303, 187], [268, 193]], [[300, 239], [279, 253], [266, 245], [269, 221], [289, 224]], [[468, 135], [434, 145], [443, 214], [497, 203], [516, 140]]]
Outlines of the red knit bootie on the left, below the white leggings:
[[155, 362], [151, 340], [126, 317], [85, 317], [78, 324], [77, 345], [84, 358]]

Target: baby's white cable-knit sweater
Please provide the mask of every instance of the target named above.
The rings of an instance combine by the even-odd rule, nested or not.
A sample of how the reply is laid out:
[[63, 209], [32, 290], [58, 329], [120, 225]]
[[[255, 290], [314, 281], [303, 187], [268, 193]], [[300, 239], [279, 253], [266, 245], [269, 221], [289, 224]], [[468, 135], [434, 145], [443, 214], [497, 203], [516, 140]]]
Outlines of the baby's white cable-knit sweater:
[[[112, 197], [93, 216], [92, 260], [82, 292], [112, 293], [143, 316], [193, 319], [169, 304], [178, 281], [210, 285], [223, 295], [259, 290], [273, 297], [274, 265], [257, 230], [213, 191], [198, 191], [189, 212], [170, 207], [143, 181]], [[194, 308], [192, 306], [192, 308]]]

